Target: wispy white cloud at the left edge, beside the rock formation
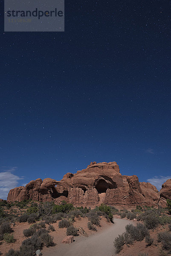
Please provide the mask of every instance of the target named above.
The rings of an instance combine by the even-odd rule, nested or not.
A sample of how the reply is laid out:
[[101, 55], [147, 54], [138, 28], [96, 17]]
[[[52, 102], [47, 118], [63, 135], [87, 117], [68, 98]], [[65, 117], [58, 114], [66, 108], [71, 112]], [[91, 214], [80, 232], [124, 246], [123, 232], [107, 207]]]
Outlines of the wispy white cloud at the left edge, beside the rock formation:
[[10, 189], [13, 189], [18, 185], [18, 180], [22, 180], [23, 177], [14, 175], [16, 167], [7, 168], [0, 167], [0, 198], [6, 199]]

